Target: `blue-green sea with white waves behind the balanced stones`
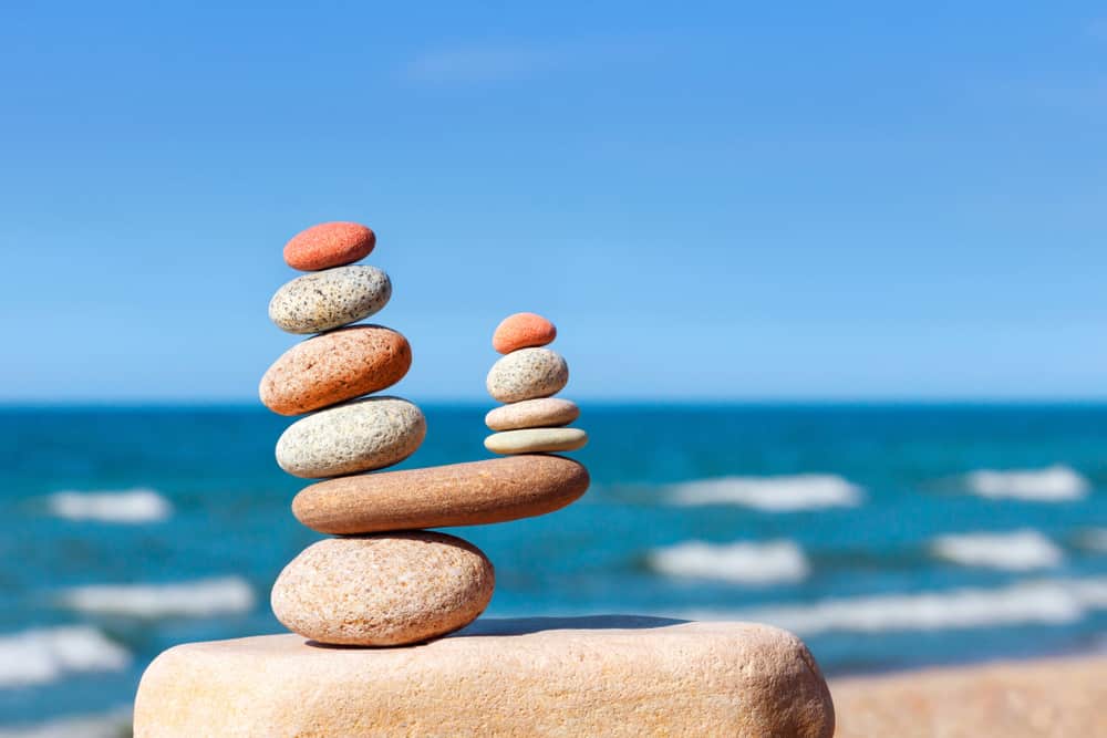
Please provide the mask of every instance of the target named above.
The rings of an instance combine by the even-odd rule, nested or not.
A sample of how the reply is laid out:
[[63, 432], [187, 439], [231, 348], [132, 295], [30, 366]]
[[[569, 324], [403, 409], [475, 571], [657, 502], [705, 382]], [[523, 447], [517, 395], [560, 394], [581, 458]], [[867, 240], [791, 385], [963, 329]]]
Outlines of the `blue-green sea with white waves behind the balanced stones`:
[[[487, 458], [424, 406], [402, 467]], [[276, 633], [320, 537], [261, 407], [0, 410], [0, 735], [111, 735], [161, 651]], [[554, 514], [452, 532], [486, 615], [744, 619], [829, 675], [1107, 648], [1107, 405], [582, 404], [592, 475]], [[75, 726], [75, 727], [74, 727]]]

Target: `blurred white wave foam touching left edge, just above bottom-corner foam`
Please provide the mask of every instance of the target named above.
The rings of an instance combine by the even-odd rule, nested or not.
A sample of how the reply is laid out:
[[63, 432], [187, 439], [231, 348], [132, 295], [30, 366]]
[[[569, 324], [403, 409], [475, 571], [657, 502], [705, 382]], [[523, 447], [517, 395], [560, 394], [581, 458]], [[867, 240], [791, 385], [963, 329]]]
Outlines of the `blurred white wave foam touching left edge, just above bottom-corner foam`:
[[0, 636], [0, 687], [49, 684], [80, 672], [116, 671], [131, 654], [86, 625]]

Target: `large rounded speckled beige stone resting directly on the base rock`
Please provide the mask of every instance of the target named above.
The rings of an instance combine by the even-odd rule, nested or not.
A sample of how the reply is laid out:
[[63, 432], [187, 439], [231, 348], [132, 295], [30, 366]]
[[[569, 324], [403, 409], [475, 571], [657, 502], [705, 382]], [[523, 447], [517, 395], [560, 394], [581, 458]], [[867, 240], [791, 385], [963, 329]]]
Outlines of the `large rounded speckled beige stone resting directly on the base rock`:
[[277, 620], [320, 643], [397, 646], [468, 625], [492, 600], [492, 562], [454, 536], [412, 531], [313, 543], [273, 584]]

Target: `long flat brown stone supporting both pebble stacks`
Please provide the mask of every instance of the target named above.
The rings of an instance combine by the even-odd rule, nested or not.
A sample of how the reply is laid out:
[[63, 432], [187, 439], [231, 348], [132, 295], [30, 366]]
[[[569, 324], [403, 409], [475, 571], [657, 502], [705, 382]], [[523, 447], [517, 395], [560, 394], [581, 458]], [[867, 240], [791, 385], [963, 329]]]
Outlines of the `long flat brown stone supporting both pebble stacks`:
[[479, 526], [552, 512], [588, 484], [588, 469], [572, 459], [520, 455], [328, 479], [297, 495], [292, 513], [339, 536]]

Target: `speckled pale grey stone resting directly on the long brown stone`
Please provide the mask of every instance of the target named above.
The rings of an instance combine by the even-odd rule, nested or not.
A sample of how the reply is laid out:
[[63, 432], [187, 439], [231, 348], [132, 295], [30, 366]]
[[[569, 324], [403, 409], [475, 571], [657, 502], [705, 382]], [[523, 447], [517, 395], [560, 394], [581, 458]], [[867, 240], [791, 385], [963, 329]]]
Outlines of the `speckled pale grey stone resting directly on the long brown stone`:
[[418, 407], [400, 397], [364, 397], [290, 425], [277, 464], [297, 477], [338, 477], [383, 469], [415, 453], [426, 436]]

